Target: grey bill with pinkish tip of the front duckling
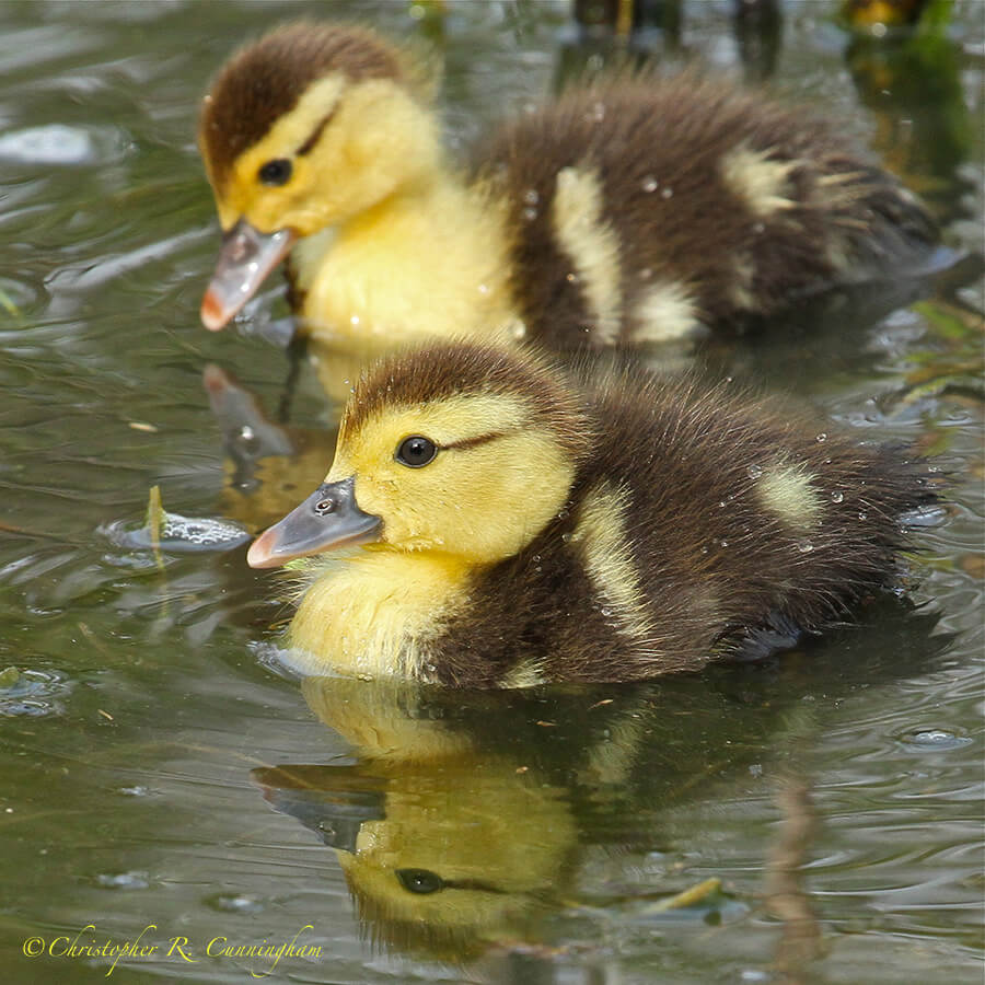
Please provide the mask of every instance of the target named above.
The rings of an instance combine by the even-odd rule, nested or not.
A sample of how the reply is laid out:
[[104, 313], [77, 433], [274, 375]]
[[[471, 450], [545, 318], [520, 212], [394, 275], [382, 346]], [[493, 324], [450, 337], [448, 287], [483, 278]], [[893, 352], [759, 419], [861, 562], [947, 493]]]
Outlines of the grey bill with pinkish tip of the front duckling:
[[383, 521], [356, 503], [356, 479], [323, 483], [301, 506], [257, 537], [246, 561], [277, 568], [298, 557], [379, 540]]

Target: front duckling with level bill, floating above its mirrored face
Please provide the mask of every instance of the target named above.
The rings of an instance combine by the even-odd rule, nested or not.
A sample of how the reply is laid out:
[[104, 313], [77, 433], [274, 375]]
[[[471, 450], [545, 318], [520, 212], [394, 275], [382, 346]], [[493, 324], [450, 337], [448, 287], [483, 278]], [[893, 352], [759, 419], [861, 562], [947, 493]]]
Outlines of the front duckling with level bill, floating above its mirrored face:
[[250, 548], [301, 563], [302, 673], [619, 681], [757, 656], [890, 586], [925, 466], [729, 383], [445, 343], [357, 383], [325, 482]]

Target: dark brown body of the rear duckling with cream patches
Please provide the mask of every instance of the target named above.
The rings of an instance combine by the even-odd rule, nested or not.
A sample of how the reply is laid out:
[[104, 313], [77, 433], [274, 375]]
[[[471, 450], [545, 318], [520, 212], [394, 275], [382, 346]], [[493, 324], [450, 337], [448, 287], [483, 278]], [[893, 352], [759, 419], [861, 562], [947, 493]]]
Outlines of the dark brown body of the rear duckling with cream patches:
[[936, 239], [831, 125], [691, 72], [571, 90], [476, 160], [507, 201], [518, 308], [555, 344], [741, 327]]

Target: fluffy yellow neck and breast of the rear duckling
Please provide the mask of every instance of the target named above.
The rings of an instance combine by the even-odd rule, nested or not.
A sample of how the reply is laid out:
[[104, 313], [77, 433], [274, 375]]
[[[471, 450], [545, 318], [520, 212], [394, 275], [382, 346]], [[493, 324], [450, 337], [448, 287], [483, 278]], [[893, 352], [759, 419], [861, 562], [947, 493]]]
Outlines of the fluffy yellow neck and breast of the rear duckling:
[[522, 333], [501, 209], [444, 166], [291, 254], [315, 336], [389, 341]]

